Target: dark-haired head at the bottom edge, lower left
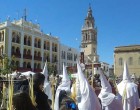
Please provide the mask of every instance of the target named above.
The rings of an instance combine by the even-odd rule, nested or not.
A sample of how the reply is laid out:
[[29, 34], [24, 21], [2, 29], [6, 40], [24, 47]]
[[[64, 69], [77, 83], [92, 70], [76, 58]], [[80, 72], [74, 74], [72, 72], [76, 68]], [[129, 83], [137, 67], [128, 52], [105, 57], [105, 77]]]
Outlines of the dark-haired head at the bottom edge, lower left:
[[13, 110], [37, 110], [32, 104], [30, 96], [25, 92], [13, 96]]

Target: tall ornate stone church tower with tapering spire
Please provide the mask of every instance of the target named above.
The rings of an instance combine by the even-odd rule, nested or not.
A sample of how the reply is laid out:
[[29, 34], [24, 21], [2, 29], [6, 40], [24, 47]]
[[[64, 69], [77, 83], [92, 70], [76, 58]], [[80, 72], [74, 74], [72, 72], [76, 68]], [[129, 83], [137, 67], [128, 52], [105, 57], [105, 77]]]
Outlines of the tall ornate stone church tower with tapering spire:
[[81, 48], [84, 55], [89, 57], [91, 61], [98, 62], [97, 28], [95, 28], [95, 20], [92, 16], [91, 6], [89, 6], [84, 26], [82, 27]]

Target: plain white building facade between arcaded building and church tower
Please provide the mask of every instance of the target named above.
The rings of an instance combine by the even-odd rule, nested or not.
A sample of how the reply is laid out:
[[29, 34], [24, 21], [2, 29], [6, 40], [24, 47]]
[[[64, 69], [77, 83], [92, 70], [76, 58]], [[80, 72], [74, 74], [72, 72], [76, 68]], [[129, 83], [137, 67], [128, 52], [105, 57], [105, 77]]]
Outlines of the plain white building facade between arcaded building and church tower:
[[63, 72], [63, 64], [68, 67], [76, 66], [78, 56], [77, 49], [60, 44], [60, 73]]

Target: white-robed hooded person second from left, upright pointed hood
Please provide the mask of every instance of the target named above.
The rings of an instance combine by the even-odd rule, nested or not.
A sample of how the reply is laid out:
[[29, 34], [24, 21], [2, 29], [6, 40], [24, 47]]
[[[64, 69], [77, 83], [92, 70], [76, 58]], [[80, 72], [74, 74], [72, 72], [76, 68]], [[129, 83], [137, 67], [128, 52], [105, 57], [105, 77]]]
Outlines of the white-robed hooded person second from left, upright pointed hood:
[[54, 110], [59, 110], [59, 94], [60, 91], [65, 90], [67, 93], [70, 92], [70, 78], [67, 74], [66, 67], [63, 64], [63, 77], [62, 77], [62, 83], [58, 86], [55, 94], [55, 102], [54, 102]]

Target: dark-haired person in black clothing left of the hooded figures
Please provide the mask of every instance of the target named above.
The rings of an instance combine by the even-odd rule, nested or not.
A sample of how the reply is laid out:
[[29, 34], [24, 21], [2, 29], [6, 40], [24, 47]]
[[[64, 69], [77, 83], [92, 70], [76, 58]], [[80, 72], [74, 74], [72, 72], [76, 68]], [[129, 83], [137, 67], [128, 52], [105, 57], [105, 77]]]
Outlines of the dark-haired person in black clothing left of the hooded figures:
[[36, 108], [38, 110], [51, 110], [48, 104], [48, 96], [43, 92], [45, 76], [41, 73], [33, 75], [34, 93], [36, 97]]

